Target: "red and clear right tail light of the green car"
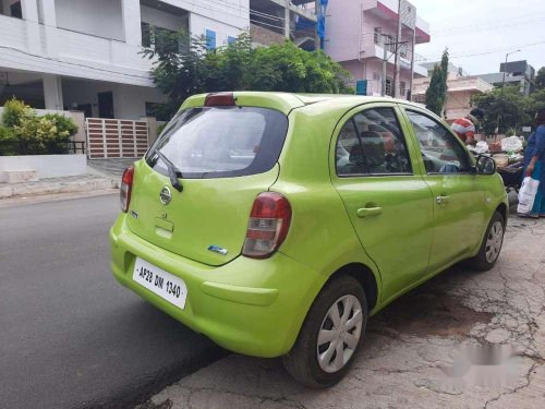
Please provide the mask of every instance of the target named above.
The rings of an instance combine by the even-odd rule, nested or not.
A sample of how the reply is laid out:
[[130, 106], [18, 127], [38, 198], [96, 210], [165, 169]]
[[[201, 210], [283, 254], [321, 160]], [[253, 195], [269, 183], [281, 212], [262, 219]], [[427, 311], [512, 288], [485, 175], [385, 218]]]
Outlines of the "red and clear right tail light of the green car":
[[242, 254], [267, 258], [282, 244], [291, 221], [290, 202], [279, 193], [261, 193], [254, 201]]

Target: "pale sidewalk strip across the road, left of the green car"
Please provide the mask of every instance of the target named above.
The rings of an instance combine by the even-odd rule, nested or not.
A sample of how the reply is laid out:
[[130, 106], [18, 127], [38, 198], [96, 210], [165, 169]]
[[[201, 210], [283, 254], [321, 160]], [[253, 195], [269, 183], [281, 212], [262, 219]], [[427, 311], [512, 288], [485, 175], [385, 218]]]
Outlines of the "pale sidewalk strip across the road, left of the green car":
[[86, 173], [64, 178], [40, 179], [37, 182], [0, 183], [0, 200], [119, 189], [119, 178]]

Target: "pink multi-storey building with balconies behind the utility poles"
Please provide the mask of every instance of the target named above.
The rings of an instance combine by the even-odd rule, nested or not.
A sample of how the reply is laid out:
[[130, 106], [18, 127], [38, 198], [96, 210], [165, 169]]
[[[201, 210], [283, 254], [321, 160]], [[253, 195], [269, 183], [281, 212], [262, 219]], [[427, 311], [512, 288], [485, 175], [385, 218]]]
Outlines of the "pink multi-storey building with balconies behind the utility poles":
[[[405, 3], [408, 10], [413, 8]], [[412, 9], [414, 13], [414, 9]], [[389, 57], [386, 74], [386, 93], [391, 95], [393, 84], [393, 55], [398, 23], [398, 0], [329, 0], [326, 19], [325, 51], [349, 70], [356, 82], [366, 80], [366, 95], [380, 95], [384, 47]], [[415, 17], [415, 43], [429, 43], [429, 25]], [[400, 89], [407, 97], [411, 82], [413, 31], [402, 28], [400, 41]], [[419, 64], [415, 55], [414, 77], [427, 76], [427, 70]]]

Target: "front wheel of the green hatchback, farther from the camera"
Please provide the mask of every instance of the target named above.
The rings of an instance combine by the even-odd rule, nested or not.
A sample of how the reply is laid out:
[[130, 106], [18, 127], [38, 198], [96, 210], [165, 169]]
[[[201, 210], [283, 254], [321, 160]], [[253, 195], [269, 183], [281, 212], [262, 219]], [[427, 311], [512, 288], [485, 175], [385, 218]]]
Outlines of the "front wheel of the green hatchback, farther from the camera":
[[486, 228], [479, 253], [468, 260], [468, 265], [477, 272], [486, 272], [494, 267], [504, 243], [506, 222], [499, 212], [494, 213], [491, 222]]

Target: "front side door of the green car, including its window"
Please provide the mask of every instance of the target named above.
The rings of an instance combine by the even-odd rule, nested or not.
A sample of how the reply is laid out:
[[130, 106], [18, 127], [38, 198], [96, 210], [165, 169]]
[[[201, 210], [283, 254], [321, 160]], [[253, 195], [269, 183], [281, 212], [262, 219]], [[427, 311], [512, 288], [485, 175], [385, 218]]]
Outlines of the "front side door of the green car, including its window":
[[473, 159], [462, 142], [424, 110], [405, 107], [404, 112], [424, 167], [424, 180], [434, 196], [432, 272], [469, 255], [481, 240], [484, 192]]

